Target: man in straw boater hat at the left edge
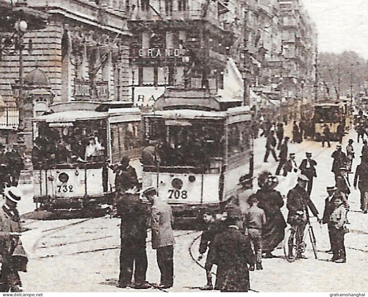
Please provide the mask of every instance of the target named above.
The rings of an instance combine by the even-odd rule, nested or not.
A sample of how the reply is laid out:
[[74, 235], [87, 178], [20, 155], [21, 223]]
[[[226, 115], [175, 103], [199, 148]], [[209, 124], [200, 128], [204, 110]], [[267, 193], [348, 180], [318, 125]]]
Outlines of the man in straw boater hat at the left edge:
[[26, 271], [28, 261], [20, 240], [21, 224], [17, 203], [22, 193], [16, 187], [4, 191], [5, 202], [0, 208], [0, 291], [21, 292], [22, 282], [18, 271]]

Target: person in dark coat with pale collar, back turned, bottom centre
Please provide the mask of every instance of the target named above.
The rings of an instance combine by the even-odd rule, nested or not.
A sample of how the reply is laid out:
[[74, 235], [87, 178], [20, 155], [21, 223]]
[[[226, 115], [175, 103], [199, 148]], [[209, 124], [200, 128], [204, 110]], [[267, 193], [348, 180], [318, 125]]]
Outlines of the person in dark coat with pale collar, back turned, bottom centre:
[[255, 264], [248, 236], [241, 230], [242, 217], [229, 217], [227, 228], [215, 236], [213, 248], [217, 259], [217, 289], [222, 292], [247, 292], [250, 289], [248, 264]]

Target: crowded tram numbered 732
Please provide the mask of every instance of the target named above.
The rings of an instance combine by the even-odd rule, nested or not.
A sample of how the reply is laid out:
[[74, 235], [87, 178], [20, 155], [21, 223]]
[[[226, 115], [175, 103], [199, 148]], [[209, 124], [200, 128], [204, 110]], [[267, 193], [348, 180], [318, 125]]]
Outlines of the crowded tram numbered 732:
[[[111, 204], [110, 164], [130, 157], [139, 174], [141, 112], [127, 103], [64, 103], [34, 119], [33, 201], [49, 211], [96, 209]], [[33, 150], [35, 150], [35, 147]], [[141, 175], [141, 174], [139, 174]]]

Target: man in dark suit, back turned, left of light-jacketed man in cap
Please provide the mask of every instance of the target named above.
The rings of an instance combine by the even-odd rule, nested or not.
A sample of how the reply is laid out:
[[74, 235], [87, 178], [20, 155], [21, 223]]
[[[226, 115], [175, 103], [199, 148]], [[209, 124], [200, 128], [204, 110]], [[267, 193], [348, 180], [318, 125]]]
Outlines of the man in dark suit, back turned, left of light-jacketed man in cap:
[[134, 187], [128, 189], [125, 195], [116, 202], [117, 215], [121, 218], [118, 287], [131, 286], [134, 266], [133, 287], [135, 289], [148, 289], [151, 287], [146, 282], [148, 207], [139, 199], [139, 194], [134, 192]]

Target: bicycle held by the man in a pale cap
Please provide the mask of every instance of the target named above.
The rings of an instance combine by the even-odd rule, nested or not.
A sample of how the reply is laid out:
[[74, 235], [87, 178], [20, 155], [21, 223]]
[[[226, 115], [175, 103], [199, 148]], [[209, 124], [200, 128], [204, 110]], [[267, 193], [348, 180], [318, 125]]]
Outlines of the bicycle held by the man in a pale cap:
[[[314, 257], [316, 260], [318, 260], [317, 256], [317, 248], [316, 248], [316, 237], [314, 235], [314, 230], [312, 228], [311, 222], [309, 220], [309, 217], [307, 217], [307, 224], [305, 225], [305, 229], [303, 232], [303, 237], [300, 241], [300, 243], [297, 243], [297, 228], [299, 228], [300, 225], [291, 226], [286, 231], [286, 236], [284, 239], [284, 255], [285, 259], [288, 262], [294, 262], [297, 258], [300, 258], [300, 256], [305, 252], [307, 248], [307, 243], [305, 242], [307, 239], [307, 235], [309, 235], [309, 239], [311, 241]], [[308, 230], [308, 231], [307, 231]]]

